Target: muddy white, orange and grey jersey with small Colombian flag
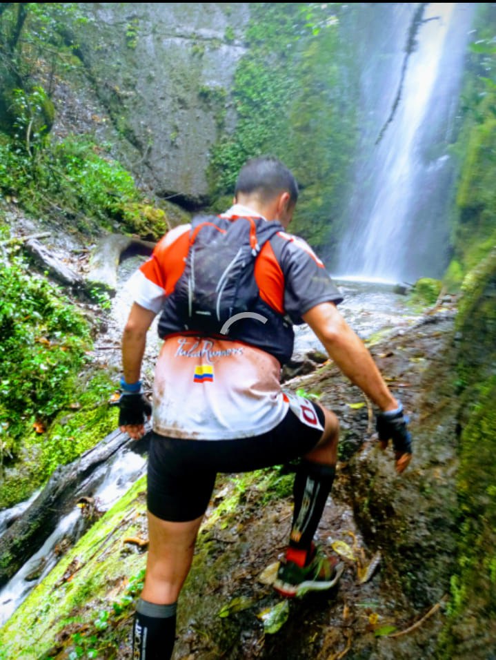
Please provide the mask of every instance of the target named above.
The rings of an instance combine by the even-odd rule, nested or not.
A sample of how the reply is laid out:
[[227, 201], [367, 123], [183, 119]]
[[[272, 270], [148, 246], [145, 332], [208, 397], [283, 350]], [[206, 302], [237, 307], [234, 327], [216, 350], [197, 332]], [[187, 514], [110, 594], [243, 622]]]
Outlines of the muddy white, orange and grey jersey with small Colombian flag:
[[[239, 204], [226, 216], [233, 222], [259, 217]], [[158, 313], [174, 290], [188, 253], [189, 229], [168, 232], [133, 275], [133, 300], [142, 307]], [[262, 247], [255, 280], [261, 300], [295, 324], [316, 304], [342, 300], [310, 246], [284, 231]], [[306, 402], [281, 391], [280, 368], [273, 355], [243, 341], [195, 336], [194, 331], [166, 336], [155, 369], [153, 428], [163, 436], [221, 440], [270, 431], [288, 407], [305, 421], [310, 416]], [[320, 428], [317, 418], [306, 423]]]

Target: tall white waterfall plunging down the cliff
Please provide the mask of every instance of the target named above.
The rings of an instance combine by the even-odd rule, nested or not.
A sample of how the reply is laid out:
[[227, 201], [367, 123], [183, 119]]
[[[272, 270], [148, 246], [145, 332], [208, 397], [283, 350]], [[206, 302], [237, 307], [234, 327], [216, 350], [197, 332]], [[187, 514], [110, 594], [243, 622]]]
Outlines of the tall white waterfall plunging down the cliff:
[[378, 50], [368, 52], [359, 80], [359, 155], [335, 269], [343, 278], [415, 281], [439, 278], [448, 265], [448, 147], [473, 8], [426, 3], [408, 55], [415, 3], [395, 3], [382, 41], [371, 37]]

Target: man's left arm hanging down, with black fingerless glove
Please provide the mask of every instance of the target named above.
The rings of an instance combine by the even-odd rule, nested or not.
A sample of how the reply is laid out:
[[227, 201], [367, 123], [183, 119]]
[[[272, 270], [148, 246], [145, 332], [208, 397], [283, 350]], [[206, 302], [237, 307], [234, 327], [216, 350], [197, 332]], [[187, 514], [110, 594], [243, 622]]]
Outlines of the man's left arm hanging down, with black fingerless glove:
[[141, 362], [146, 348], [146, 333], [155, 318], [155, 312], [135, 302], [122, 336], [121, 402], [119, 427], [131, 438], [139, 440], [145, 432], [144, 418], [150, 417], [151, 406], [141, 393]]

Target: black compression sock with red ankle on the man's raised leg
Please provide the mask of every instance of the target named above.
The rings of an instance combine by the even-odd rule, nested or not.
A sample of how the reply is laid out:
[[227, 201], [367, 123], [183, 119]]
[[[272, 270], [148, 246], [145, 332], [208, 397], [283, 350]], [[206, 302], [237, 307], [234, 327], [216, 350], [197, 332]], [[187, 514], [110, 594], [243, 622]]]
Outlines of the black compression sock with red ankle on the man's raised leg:
[[328, 494], [333, 487], [335, 465], [321, 465], [301, 460], [297, 467], [293, 496], [295, 511], [292, 516], [290, 547], [286, 559], [304, 566], [311, 559], [313, 535], [324, 512]]

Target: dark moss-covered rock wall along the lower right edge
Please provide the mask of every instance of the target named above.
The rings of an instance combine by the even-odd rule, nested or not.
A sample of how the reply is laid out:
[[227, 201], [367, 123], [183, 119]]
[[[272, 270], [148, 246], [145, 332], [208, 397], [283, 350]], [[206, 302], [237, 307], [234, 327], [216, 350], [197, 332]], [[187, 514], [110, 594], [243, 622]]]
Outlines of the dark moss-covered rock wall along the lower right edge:
[[462, 428], [459, 439], [459, 552], [439, 657], [494, 648], [496, 630], [496, 251], [464, 280], [457, 318]]

